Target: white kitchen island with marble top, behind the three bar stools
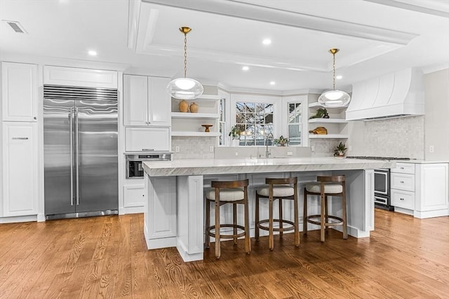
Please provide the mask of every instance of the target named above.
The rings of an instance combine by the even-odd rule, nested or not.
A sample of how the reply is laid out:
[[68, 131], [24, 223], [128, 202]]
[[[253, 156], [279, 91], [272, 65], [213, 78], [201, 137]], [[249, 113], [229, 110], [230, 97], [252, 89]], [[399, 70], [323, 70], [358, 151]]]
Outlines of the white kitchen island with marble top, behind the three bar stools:
[[[373, 169], [393, 168], [396, 163], [339, 158], [262, 158], [145, 161], [142, 165], [146, 193], [144, 232], [148, 249], [176, 246], [183, 260], [192, 261], [203, 259], [203, 188], [210, 186], [210, 181], [249, 179], [253, 235], [254, 192], [255, 188], [263, 185], [266, 177], [297, 176], [302, 206], [305, 183], [315, 181], [317, 175], [344, 174], [347, 181], [348, 233], [353, 237], [369, 237], [370, 230], [374, 228]], [[309, 204], [309, 209], [318, 207]], [[331, 199], [330, 210], [333, 214], [341, 212], [339, 204], [334, 207]], [[284, 211], [288, 212], [288, 206]], [[225, 211], [225, 219], [227, 216]]]

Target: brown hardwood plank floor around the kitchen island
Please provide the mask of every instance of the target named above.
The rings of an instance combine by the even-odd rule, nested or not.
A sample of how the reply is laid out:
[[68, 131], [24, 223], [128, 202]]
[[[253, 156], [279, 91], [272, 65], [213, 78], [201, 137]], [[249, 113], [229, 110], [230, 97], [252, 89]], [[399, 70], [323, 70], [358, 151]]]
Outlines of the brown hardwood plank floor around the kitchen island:
[[222, 242], [200, 262], [147, 251], [143, 215], [0, 225], [0, 298], [449, 298], [449, 217], [376, 210], [370, 238], [319, 230]]

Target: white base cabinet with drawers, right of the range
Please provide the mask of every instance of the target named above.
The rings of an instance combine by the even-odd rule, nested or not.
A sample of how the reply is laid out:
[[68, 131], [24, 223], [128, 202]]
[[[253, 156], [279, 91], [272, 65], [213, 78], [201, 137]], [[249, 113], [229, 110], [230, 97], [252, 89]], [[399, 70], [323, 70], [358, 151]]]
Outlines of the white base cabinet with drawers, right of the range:
[[391, 169], [394, 210], [429, 218], [448, 215], [448, 164], [397, 162]]

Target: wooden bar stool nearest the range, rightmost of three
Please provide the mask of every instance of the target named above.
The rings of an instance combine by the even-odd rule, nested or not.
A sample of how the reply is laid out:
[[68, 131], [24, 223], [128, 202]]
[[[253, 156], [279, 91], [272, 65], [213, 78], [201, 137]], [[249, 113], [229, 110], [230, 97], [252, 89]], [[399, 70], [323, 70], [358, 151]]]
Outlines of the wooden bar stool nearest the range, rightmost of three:
[[[307, 216], [307, 195], [320, 196], [320, 215]], [[342, 217], [328, 214], [328, 196], [342, 197]], [[314, 221], [319, 218], [320, 221]], [[348, 238], [347, 211], [346, 211], [346, 185], [344, 176], [318, 176], [316, 182], [307, 183], [304, 188], [304, 220], [303, 232], [307, 235], [307, 223], [320, 225], [321, 242], [324, 242], [325, 228], [343, 225], [343, 239]]]

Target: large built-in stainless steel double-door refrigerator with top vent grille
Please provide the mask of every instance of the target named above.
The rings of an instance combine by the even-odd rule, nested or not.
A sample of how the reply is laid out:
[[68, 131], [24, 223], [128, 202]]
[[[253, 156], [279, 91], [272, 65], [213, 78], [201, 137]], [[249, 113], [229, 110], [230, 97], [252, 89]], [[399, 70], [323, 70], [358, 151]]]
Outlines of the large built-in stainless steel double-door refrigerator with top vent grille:
[[44, 85], [47, 219], [118, 214], [117, 90]]

